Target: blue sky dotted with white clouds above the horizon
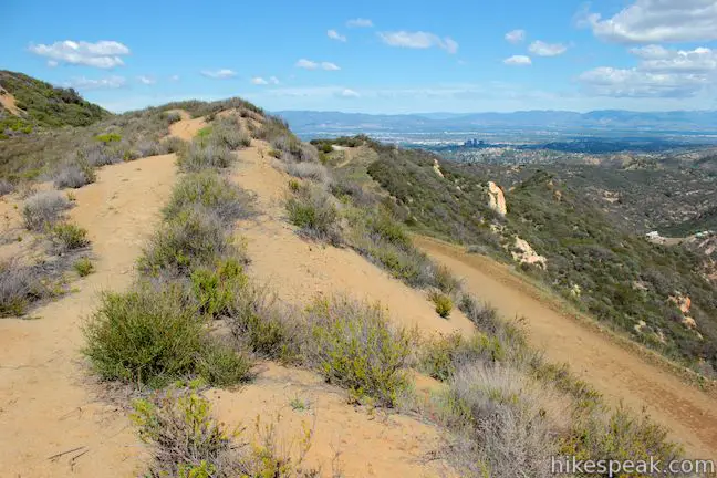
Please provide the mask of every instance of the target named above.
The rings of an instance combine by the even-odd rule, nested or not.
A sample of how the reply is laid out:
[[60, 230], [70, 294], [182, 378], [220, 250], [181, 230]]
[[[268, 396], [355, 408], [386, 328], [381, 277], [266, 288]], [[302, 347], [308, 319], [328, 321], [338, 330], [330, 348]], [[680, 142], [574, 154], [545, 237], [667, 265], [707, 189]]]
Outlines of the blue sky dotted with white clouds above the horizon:
[[112, 111], [714, 110], [717, 0], [6, 0], [0, 67]]

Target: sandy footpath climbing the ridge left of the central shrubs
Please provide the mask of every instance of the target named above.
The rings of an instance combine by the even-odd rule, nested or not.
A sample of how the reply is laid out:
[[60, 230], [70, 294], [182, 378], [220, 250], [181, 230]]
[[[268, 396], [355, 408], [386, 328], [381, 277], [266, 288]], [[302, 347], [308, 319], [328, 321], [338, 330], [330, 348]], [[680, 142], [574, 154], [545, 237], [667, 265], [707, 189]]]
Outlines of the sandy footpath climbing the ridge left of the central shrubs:
[[[89, 230], [96, 272], [76, 292], [0, 319], [0, 464], [8, 477], [119, 477], [139, 472], [143, 447], [124, 411], [97, 399], [81, 358], [81, 325], [102, 290], [132, 281], [175, 178], [175, 156], [107, 166], [74, 190], [70, 218]], [[72, 450], [72, 451], [71, 451]], [[66, 453], [71, 451], [71, 453]], [[54, 455], [63, 454], [55, 458]]]

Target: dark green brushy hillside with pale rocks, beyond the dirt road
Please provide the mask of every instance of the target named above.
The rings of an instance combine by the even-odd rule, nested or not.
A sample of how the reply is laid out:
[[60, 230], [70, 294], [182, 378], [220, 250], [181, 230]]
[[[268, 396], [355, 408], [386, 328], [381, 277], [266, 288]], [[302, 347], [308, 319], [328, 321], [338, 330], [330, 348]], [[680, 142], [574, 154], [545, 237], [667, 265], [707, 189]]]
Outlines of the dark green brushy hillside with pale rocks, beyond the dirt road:
[[[717, 370], [717, 293], [700, 274], [700, 257], [679, 247], [652, 245], [619, 227], [580, 190], [536, 172], [506, 190], [508, 215], [488, 208], [489, 177], [465, 165], [441, 163], [418, 150], [374, 146], [368, 174], [404, 209], [415, 230], [472, 247], [511, 262], [515, 237], [548, 259], [545, 270], [521, 266], [580, 310], [632, 339], [714, 376]], [[496, 231], [491, 230], [493, 228]], [[689, 297], [683, 324], [671, 297]], [[646, 323], [640, 326], [641, 321]], [[636, 328], [637, 325], [637, 328]]]

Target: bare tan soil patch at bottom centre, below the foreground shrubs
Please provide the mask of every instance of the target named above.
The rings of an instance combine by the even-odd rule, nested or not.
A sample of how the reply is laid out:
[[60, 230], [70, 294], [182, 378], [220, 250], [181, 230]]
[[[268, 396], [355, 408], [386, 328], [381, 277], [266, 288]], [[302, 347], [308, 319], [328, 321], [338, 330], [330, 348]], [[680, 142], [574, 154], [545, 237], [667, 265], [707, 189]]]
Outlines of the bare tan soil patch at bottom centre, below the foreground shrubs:
[[[312, 430], [305, 465], [321, 476], [341, 471], [345, 477], [449, 477], [450, 469], [432, 460], [441, 444], [436, 428], [404, 415], [353, 407], [346, 394], [328, 386], [314, 373], [267, 363], [260, 376], [239, 392], [208, 394], [217, 417], [246, 428], [256, 437], [256, 422], [274, 424], [278, 443], [295, 459], [304, 429]], [[293, 409], [292, 401], [306, 408]]]

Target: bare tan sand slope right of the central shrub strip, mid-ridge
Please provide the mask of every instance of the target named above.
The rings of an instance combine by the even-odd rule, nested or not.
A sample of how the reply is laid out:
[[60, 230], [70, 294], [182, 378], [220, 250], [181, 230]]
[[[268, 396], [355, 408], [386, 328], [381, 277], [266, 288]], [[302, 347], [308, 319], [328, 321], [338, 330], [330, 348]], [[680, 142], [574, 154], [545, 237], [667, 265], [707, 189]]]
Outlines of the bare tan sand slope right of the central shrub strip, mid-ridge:
[[[254, 142], [260, 144], [260, 142]], [[257, 195], [257, 220], [241, 225], [251, 258], [249, 272], [267, 282], [290, 303], [308, 303], [318, 294], [345, 293], [380, 301], [391, 316], [424, 332], [470, 332], [474, 325], [460, 312], [440, 319], [425, 293], [389, 277], [347, 248], [326, 247], [300, 238], [285, 221], [282, 205], [289, 176], [272, 166], [268, 146], [245, 149], [233, 179]], [[262, 157], [262, 155], [264, 157]]]

